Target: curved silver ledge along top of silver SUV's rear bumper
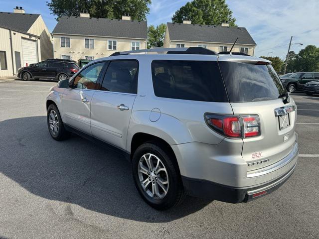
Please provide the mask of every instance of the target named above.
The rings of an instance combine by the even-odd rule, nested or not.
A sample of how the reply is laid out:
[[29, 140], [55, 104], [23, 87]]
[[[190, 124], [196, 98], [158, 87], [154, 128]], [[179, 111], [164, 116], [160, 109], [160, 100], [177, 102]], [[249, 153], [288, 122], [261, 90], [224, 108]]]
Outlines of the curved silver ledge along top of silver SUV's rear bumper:
[[289, 164], [291, 161], [293, 161], [297, 157], [298, 154], [299, 154], [299, 146], [298, 146], [298, 143], [295, 143], [293, 150], [282, 160], [272, 165], [269, 165], [267, 167], [247, 172], [247, 178], [258, 177], [258, 176], [265, 175], [267, 173], [274, 172], [277, 169], [280, 169], [284, 167], [285, 165]]

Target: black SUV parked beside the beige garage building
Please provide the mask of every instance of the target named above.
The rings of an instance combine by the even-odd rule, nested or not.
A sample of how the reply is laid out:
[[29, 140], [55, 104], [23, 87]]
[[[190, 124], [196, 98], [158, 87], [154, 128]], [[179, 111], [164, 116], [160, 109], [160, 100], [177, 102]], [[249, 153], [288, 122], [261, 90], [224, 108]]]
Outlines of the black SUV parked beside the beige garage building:
[[71, 78], [79, 70], [75, 61], [48, 59], [18, 70], [17, 77], [24, 81], [30, 79], [64, 80]]

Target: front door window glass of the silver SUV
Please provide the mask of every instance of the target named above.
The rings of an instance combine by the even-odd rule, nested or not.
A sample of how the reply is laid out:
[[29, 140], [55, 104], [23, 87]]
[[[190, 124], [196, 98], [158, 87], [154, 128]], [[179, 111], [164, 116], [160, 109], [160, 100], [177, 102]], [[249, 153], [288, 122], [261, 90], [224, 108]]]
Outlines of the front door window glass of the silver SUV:
[[73, 88], [78, 89], [96, 89], [97, 80], [104, 66], [104, 62], [88, 66], [81, 71], [74, 79]]

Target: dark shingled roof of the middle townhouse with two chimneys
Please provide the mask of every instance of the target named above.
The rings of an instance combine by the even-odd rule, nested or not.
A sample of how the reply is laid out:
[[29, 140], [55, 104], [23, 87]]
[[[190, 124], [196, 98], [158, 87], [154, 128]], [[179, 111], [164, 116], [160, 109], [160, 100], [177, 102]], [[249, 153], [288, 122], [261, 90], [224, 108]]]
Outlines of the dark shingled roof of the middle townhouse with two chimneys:
[[62, 16], [52, 33], [147, 39], [147, 22]]

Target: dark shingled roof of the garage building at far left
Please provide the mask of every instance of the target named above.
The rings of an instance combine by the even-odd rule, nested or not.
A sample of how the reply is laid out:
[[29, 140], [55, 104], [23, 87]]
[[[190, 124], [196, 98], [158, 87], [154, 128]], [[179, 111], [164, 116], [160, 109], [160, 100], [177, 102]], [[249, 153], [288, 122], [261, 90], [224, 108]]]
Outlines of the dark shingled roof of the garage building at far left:
[[27, 32], [39, 14], [0, 12], [0, 26]]

